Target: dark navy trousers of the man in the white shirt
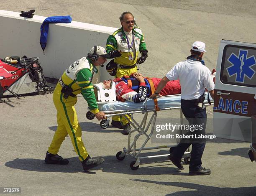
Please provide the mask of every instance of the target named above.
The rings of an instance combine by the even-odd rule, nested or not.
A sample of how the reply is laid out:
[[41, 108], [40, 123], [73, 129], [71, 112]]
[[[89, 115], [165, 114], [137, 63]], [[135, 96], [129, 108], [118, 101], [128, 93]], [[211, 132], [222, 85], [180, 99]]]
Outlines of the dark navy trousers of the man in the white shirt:
[[[205, 127], [207, 122], [206, 108], [199, 109], [195, 105], [194, 100], [181, 100], [182, 113], [189, 121], [189, 125], [201, 125], [202, 130], [188, 131], [185, 135], [205, 135]], [[198, 142], [198, 143], [197, 143]], [[176, 158], [181, 159], [185, 151], [192, 145], [189, 171], [197, 171], [202, 166], [202, 154], [205, 149], [205, 140], [182, 139], [173, 151]]]

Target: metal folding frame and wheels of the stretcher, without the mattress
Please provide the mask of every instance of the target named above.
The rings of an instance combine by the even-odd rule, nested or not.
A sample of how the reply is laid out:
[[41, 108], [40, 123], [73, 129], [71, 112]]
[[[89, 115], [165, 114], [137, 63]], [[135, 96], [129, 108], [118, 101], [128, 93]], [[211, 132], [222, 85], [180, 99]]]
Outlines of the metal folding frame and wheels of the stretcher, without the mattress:
[[[177, 94], [176, 95], [168, 95], [168, 96], [164, 96], [164, 97], [173, 97], [173, 96], [177, 96]], [[172, 152], [173, 148], [175, 148], [177, 146], [177, 144], [176, 144], [176, 145], [161, 145], [161, 146], [156, 146], [156, 147], [145, 147], [146, 144], [148, 143], [148, 141], [151, 139], [151, 136], [153, 135], [154, 127], [155, 127], [155, 123], [156, 123], [156, 117], [157, 117], [156, 109], [148, 109], [147, 108], [147, 102], [149, 100], [152, 100], [152, 98], [147, 98], [146, 99], [145, 107], [143, 109], [135, 109], [135, 110], [132, 110], [132, 111], [118, 111], [118, 110], [104, 111], [107, 114], [106, 115], [107, 120], [103, 120], [101, 122], [101, 127], [104, 126], [104, 125], [102, 125], [102, 123], [103, 124], [105, 123], [105, 125], [107, 125], [107, 127], [108, 127], [108, 124], [110, 122], [110, 117], [117, 116], [117, 115], [118, 116], [123, 115], [123, 117], [125, 117], [125, 119], [134, 128], [128, 134], [127, 148], [124, 147], [123, 151], [119, 151], [116, 154], [116, 158], [118, 160], [123, 160], [125, 158], [126, 154], [131, 155], [133, 158], [135, 158], [135, 161], [132, 161], [130, 163], [130, 167], [133, 170], [138, 169], [141, 159], [167, 157]], [[102, 104], [102, 102], [99, 102], [99, 104]], [[209, 104], [205, 104], [205, 105], [209, 105]], [[181, 111], [181, 106], [161, 108], [158, 111], [170, 110], [170, 109], [180, 109], [180, 123], [182, 124], [183, 123], [183, 114], [182, 114], [182, 111]], [[149, 112], [153, 112], [153, 114], [151, 115], [149, 121], [147, 122]], [[140, 124], [133, 118], [133, 114], [137, 114], [137, 113], [142, 113], [144, 115], [143, 120], [141, 121]], [[125, 115], [130, 115], [131, 120], [128, 117], [126, 117]], [[151, 131], [148, 132], [150, 125], [151, 125]], [[131, 143], [131, 135], [134, 132], [138, 132], [138, 133], [134, 136], [133, 142]], [[182, 130], [181, 130], [181, 132], [182, 132]], [[140, 148], [137, 148], [136, 142], [137, 142], [138, 138], [141, 135], [145, 135], [146, 140], [144, 141], [143, 145], [141, 145]], [[143, 156], [143, 157], [140, 156], [141, 151], [143, 151], [143, 150], [154, 150], [154, 149], [161, 149], [161, 148], [170, 148], [170, 150], [169, 150], [170, 153], [169, 154], [164, 154], [164, 155], [152, 155], [152, 156]], [[190, 148], [188, 148], [188, 150], [184, 153], [183, 158], [184, 158], [184, 162], [186, 164], [189, 164], [189, 162], [190, 162]]]

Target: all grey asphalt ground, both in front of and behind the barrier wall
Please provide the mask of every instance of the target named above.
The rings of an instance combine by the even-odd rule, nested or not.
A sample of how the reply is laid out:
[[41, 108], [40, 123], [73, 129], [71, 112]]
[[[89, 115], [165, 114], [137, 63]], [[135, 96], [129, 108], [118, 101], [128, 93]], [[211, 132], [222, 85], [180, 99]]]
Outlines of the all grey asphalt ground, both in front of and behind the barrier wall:
[[[255, 5], [253, 0], [0, 1], [2, 10], [35, 9], [36, 15], [72, 15], [74, 21], [117, 28], [118, 17], [129, 10], [143, 30], [149, 51], [140, 71], [157, 77], [184, 60], [194, 41], [206, 43], [209, 69], [216, 67], [221, 39], [255, 43]], [[46, 165], [45, 153], [56, 130], [52, 94], [5, 101], [0, 103], [0, 187], [20, 187], [22, 195], [256, 194], [256, 164], [248, 159], [248, 143], [207, 143], [202, 163], [211, 169], [210, 176], [188, 176], [188, 165], [179, 171], [167, 158], [141, 160], [139, 169], [133, 171], [131, 156], [126, 155], [123, 161], [115, 158], [127, 146], [127, 136], [111, 126], [101, 129], [97, 120], [87, 120], [87, 104], [81, 96], [76, 109], [82, 139], [90, 155], [103, 157], [105, 162], [90, 172], [82, 172], [67, 137], [59, 154], [69, 159], [69, 165]], [[208, 118], [212, 118], [212, 107], [207, 111]], [[159, 119], [168, 117], [178, 118], [179, 110], [158, 113]], [[138, 121], [141, 118], [136, 115]], [[151, 150], [143, 155], [168, 152]]]

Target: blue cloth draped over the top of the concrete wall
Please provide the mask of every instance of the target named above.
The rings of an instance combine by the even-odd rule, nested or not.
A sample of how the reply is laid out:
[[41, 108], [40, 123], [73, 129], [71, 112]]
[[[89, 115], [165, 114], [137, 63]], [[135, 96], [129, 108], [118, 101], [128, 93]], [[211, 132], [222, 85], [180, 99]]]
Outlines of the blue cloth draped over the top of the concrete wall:
[[41, 36], [40, 36], [40, 45], [44, 51], [47, 43], [47, 35], [49, 30], [49, 23], [71, 23], [72, 18], [70, 15], [67, 16], [51, 16], [44, 20], [41, 25]]

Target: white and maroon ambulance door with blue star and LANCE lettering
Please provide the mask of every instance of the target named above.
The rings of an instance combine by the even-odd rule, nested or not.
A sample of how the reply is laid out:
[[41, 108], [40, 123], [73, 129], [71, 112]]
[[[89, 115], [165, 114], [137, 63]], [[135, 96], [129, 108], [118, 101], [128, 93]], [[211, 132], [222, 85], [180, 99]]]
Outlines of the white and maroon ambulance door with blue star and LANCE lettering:
[[256, 44], [222, 40], [218, 53], [213, 105], [217, 137], [251, 142], [256, 161]]

